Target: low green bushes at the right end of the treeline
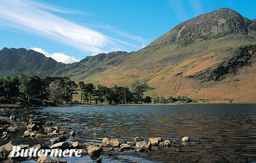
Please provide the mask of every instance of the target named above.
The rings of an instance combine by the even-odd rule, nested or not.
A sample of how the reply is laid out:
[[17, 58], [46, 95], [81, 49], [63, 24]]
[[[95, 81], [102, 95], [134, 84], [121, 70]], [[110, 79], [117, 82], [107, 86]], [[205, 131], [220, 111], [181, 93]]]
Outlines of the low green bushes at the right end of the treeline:
[[174, 103], [174, 102], [177, 102], [177, 101], [180, 101], [182, 103], [190, 103], [190, 102], [195, 102], [193, 100], [191, 100], [190, 98], [188, 97], [185, 97], [185, 96], [178, 96], [177, 98], [176, 97], [168, 97], [167, 99], [164, 99], [164, 97], [156, 97], [153, 102], [156, 104], [156, 103], [162, 103], [162, 104], [167, 104], [167, 103]]

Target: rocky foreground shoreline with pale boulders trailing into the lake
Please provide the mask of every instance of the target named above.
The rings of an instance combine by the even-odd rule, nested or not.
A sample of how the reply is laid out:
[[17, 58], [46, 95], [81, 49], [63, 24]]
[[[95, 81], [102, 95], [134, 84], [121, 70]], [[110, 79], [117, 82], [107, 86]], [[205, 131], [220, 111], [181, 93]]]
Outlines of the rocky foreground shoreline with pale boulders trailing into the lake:
[[[68, 125], [68, 122], [66, 123]], [[84, 128], [90, 130], [89, 127]], [[37, 162], [66, 162], [59, 159], [48, 157], [10, 157], [13, 146], [19, 146], [21, 149], [81, 149], [81, 156], [89, 155], [95, 162], [101, 162], [100, 154], [108, 151], [134, 150], [135, 152], [150, 152], [153, 147], [169, 148], [174, 142], [172, 140], [163, 140], [161, 137], [151, 137], [144, 139], [136, 136], [130, 142], [117, 138], [105, 137], [101, 143], [93, 142], [73, 142], [69, 144], [67, 137], [76, 136], [76, 131], [67, 132], [64, 128], [55, 126], [52, 122], [44, 122], [34, 115], [20, 117], [10, 115], [10, 118], [0, 117], [0, 161], [20, 162], [27, 159], [33, 159]], [[103, 131], [104, 132], [104, 131]], [[93, 133], [93, 136], [97, 136]], [[189, 137], [183, 137], [182, 143], [190, 142]]]

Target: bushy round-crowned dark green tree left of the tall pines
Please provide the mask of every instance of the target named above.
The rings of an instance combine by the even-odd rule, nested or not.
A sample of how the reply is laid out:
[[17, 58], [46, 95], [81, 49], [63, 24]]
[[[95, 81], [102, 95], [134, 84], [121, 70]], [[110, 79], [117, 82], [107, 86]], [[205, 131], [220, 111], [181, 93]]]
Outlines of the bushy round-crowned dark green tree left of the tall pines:
[[28, 102], [31, 97], [38, 96], [40, 94], [42, 85], [39, 77], [30, 73], [26, 75], [20, 74], [18, 76], [18, 80], [20, 83], [18, 86], [19, 92], [28, 98]]

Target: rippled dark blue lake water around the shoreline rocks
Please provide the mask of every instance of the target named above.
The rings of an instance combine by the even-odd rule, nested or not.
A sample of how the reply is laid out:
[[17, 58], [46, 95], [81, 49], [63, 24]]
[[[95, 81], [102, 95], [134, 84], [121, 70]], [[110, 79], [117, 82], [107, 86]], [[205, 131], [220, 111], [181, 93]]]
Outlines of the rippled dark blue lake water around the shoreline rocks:
[[[70, 143], [76, 140], [99, 143], [106, 136], [125, 141], [132, 141], [135, 136], [176, 141], [168, 149], [159, 147], [150, 153], [106, 152], [101, 154], [102, 162], [256, 161], [255, 104], [76, 106], [18, 112], [30, 113], [67, 131], [79, 131], [68, 138]], [[86, 130], [86, 126], [92, 131]], [[94, 132], [96, 137], [92, 136]], [[191, 138], [190, 144], [181, 143], [183, 136]], [[62, 159], [91, 161], [89, 156]]]

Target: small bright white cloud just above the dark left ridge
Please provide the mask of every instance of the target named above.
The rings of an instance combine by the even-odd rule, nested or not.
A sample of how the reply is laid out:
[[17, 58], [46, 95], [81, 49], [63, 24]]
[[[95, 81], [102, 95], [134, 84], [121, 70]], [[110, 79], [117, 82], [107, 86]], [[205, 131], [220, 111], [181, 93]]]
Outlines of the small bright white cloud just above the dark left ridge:
[[62, 63], [73, 63], [73, 62], [79, 62], [78, 59], [76, 59], [75, 57], [71, 57], [68, 55], [65, 55], [63, 53], [48, 53], [44, 50], [42, 50], [41, 48], [31, 48], [32, 50], [39, 52], [41, 54], [44, 54], [46, 57], [51, 57], [54, 60], [56, 60], [57, 62], [62, 62]]

